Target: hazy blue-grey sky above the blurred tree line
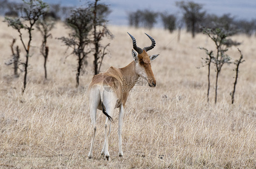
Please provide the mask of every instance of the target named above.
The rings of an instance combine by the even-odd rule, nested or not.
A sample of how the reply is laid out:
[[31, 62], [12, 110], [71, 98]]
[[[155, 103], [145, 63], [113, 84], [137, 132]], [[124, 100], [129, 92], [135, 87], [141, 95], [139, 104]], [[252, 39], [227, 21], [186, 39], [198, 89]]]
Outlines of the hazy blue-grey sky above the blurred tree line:
[[[21, 0], [9, 0], [21, 2]], [[61, 4], [63, 6], [81, 6], [87, 0], [44, 0], [47, 3]], [[156, 12], [168, 12], [179, 16], [180, 10], [175, 6], [175, 2], [180, 0], [100, 0], [100, 3], [110, 5], [112, 13], [108, 19], [110, 24], [128, 24], [127, 13], [138, 9], [150, 9]], [[188, 0], [184, 0], [188, 1]], [[204, 10], [208, 14], [230, 13], [237, 19], [256, 18], [256, 0], [193, 0], [204, 5]]]

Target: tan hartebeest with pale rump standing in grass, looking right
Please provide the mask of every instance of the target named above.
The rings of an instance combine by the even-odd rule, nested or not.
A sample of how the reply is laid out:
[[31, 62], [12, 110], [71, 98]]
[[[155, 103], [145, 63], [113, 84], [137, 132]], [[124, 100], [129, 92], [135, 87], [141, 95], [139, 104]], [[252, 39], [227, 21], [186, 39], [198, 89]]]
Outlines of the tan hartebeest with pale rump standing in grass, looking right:
[[[94, 77], [92, 77], [92, 82], [89, 84], [88, 87], [90, 116], [93, 126], [91, 148], [88, 154], [89, 158], [92, 158], [92, 148], [96, 133], [97, 109], [102, 110], [102, 112], [106, 115], [105, 141], [101, 154], [105, 155], [107, 160], [110, 160], [108, 152], [108, 136], [110, 134], [110, 125], [113, 121], [113, 111], [115, 108], [119, 107], [118, 145], [119, 156], [123, 156], [123, 113], [129, 91], [133, 88], [135, 83], [138, 81], [139, 77], [145, 78], [150, 87], [156, 86], [156, 80], [151, 69], [150, 61], [157, 58], [159, 54], [154, 54], [149, 57], [147, 53], [148, 50], [154, 48], [155, 40], [148, 34], [146, 34], [148, 38], [151, 40], [152, 44], [149, 47], [145, 47], [142, 49], [137, 47], [136, 39], [131, 34], [129, 35], [133, 40], [133, 49], [138, 52], [137, 54], [132, 49], [133, 62], [131, 62], [124, 68], [110, 67], [106, 72], [102, 72], [100, 74], [95, 75]], [[127, 79], [127, 77], [128, 79], [130, 79], [129, 82], [125, 82], [125, 79]]]

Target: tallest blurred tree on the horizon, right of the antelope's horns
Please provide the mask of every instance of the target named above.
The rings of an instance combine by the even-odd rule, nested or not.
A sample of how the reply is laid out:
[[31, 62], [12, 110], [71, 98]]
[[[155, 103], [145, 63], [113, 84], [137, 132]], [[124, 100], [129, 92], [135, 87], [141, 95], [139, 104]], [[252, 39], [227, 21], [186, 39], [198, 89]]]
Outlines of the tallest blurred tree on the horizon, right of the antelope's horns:
[[199, 27], [198, 24], [203, 20], [206, 13], [202, 11], [203, 5], [193, 1], [180, 1], [176, 2], [176, 6], [183, 11], [183, 19], [187, 25], [187, 30], [191, 31], [192, 37], [195, 38], [196, 28]]

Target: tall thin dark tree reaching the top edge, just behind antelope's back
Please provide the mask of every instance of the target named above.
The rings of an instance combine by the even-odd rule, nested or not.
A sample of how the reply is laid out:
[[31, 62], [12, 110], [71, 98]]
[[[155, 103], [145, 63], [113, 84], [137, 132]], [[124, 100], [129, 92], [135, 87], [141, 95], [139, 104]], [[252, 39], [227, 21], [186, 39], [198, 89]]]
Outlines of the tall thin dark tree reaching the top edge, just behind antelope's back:
[[[106, 19], [107, 15], [110, 13], [108, 6], [103, 4], [98, 4], [99, 0], [95, 0], [94, 3], [90, 4], [89, 6], [92, 9], [93, 13], [93, 41], [94, 44], [94, 74], [98, 74], [100, 72], [100, 66], [105, 56], [105, 49], [109, 46], [108, 43], [105, 47], [100, 44], [102, 38], [106, 35], [110, 38], [113, 38], [113, 35], [108, 30], [106, 23], [108, 20]], [[101, 58], [101, 61], [99, 59]]]

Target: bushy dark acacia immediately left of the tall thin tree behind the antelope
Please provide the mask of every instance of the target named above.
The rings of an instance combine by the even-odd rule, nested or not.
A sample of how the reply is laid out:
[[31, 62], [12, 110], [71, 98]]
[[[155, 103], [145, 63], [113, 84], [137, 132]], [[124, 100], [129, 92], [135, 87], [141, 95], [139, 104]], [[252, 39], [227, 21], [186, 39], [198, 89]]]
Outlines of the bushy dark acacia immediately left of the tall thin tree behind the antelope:
[[73, 48], [72, 53], [77, 56], [77, 87], [82, 68], [87, 63], [87, 54], [91, 52], [91, 50], [85, 51], [85, 47], [91, 43], [92, 19], [90, 8], [72, 10], [70, 17], [66, 19], [66, 24], [72, 28], [72, 33], [69, 34], [69, 37], [59, 38], [68, 48]]

